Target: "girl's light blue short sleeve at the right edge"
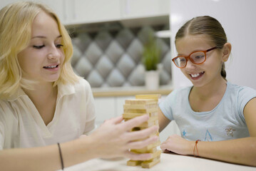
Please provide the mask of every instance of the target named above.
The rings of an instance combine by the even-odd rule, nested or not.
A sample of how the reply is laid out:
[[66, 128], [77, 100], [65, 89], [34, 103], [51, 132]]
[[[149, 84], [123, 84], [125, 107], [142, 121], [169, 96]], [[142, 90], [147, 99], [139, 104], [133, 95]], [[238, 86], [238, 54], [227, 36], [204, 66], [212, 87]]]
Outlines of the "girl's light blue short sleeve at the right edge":
[[256, 90], [249, 88], [249, 87], [242, 87], [237, 94], [237, 106], [238, 106], [238, 113], [242, 120], [245, 121], [244, 116], [244, 108], [245, 105], [252, 100], [252, 98], [256, 98]]

